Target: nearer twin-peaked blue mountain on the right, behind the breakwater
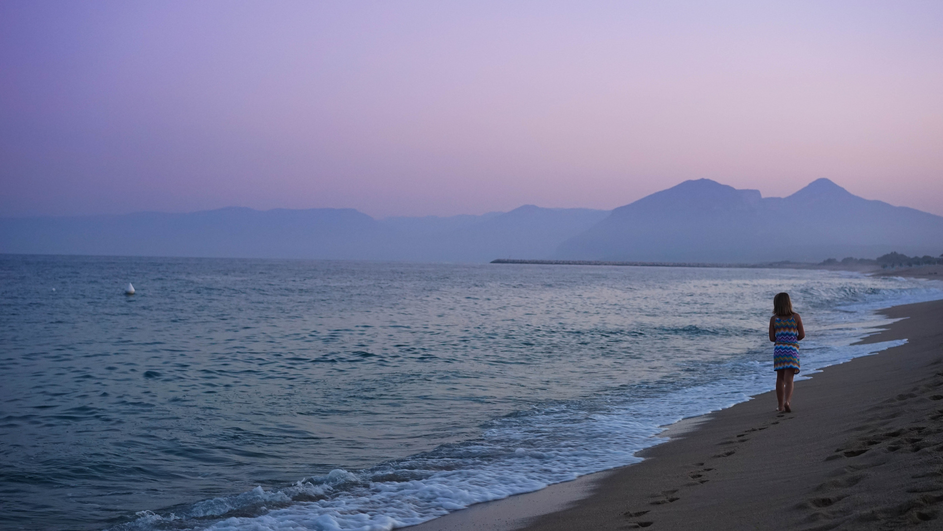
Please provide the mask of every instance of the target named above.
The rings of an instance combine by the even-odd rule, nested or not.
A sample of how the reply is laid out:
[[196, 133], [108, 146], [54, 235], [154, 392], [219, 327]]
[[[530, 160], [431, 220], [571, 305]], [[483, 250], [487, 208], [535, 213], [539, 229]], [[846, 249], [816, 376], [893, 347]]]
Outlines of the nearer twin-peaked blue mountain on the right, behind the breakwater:
[[943, 249], [943, 217], [894, 207], [818, 179], [763, 198], [710, 179], [685, 181], [616, 208], [556, 257], [683, 262], [819, 261]]

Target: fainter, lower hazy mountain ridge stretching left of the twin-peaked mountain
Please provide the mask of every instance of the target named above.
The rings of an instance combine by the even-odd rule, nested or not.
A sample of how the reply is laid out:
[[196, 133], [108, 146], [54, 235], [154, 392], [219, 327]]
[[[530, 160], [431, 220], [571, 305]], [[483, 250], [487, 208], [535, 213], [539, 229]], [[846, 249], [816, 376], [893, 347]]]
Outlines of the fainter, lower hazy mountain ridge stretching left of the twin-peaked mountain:
[[485, 262], [546, 257], [608, 211], [520, 207], [446, 218], [374, 220], [353, 208], [228, 207], [186, 214], [0, 219], [0, 252]]

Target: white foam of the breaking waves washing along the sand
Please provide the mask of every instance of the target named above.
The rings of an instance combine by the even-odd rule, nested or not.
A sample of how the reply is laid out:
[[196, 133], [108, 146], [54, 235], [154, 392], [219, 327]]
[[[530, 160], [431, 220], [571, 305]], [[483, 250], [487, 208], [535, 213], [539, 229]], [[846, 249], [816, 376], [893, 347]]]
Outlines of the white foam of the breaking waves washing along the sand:
[[[906, 340], [892, 340], [870, 345], [829, 349], [809, 360], [820, 369], [868, 356]], [[757, 367], [763, 373], [736, 381], [716, 381], [703, 386], [679, 390], [655, 400], [616, 407], [605, 413], [594, 413], [578, 421], [570, 421], [571, 433], [580, 433], [579, 440], [559, 440], [552, 447], [516, 448], [489, 465], [475, 466], [475, 459], [455, 458], [456, 464], [468, 468], [433, 473], [426, 479], [405, 482], [371, 482], [369, 475], [358, 477], [344, 474], [352, 483], [364, 481], [369, 486], [339, 492], [323, 501], [299, 503], [276, 509], [254, 518], [229, 518], [210, 529], [219, 531], [262, 530], [356, 530], [377, 531], [413, 525], [432, 520], [448, 512], [473, 504], [505, 498], [513, 494], [542, 489], [550, 484], [569, 481], [579, 475], [600, 472], [641, 460], [634, 454], [662, 442], [653, 438], [664, 426], [683, 418], [734, 406], [752, 394], [769, 390], [769, 367]], [[815, 371], [810, 372], [815, 372]], [[568, 411], [547, 411], [547, 421]], [[553, 421], [548, 423], [554, 425]], [[493, 428], [485, 440], [521, 437], [514, 427]], [[535, 425], [534, 430], [548, 429]], [[555, 430], [554, 430], [555, 431]], [[525, 438], [521, 438], [525, 439]], [[527, 438], [531, 439], [531, 438]], [[534, 439], [531, 439], [534, 440]], [[494, 447], [483, 444], [480, 450], [491, 453]], [[466, 451], [472, 450], [466, 448]], [[473, 450], [472, 450], [473, 451]], [[329, 474], [329, 475], [331, 475]], [[315, 478], [315, 481], [329, 481]], [[322, 485], [299, 482], [291, 490], [325, 493]], [[287, 490], [287, 491], [291, 491]], [[257, 496], [260, 489], [251, 491]], [[273, 497], [283, 492], [273, 493]], [[240, 494], [243, 496], [244, 494]]]

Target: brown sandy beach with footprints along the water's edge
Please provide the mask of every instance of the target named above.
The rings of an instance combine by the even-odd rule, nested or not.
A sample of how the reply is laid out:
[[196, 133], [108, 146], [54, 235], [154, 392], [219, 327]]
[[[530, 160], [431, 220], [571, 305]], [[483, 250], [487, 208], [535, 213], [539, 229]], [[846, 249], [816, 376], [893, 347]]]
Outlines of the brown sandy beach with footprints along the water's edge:
[[679, 423], [636, 465], [412, 529], [938, 528], [943, 301], [882, 313], [901, 321], [862, 342], [907, 343], [797, 382], [791, 414], [760, 394]]

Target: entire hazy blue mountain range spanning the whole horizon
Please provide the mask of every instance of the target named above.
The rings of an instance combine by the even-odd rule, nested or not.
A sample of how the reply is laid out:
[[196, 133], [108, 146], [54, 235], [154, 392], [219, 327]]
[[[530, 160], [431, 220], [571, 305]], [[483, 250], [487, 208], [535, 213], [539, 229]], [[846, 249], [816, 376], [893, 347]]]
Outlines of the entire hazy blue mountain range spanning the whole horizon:
[[485, 262], [493, 258], [771, 262], [943, 251], [943, 217], [819, 179], [762, 197], [685, 181], [614, 210], [542, 208], [376, 220], [353, 208], [0, 218], [0, 252]]

